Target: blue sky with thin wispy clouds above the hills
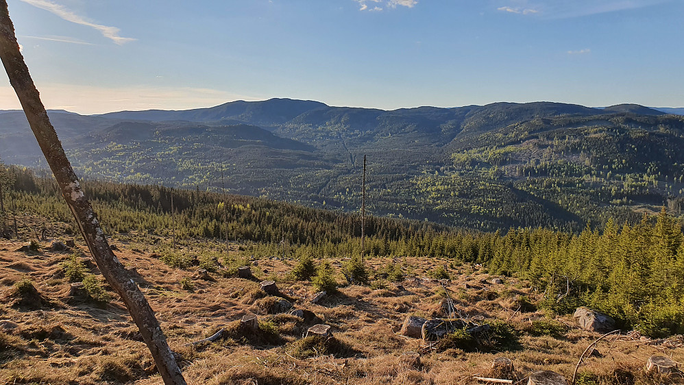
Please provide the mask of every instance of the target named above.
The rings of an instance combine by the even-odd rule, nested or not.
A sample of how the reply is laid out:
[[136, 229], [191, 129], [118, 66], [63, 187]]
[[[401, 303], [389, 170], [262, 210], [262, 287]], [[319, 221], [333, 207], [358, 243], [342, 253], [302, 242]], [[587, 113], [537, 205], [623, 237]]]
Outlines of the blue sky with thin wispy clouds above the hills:
[[683, 0], [8, 3], [45, 105], [73, 112], [271, 97], [684, 106]]

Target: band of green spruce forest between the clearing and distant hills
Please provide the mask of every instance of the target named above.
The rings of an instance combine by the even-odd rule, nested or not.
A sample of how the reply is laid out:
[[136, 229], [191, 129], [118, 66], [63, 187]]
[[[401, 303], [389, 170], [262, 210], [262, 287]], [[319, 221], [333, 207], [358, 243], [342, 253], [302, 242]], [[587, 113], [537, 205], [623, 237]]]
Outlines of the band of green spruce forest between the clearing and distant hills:
[[[16, 212], [48, 223], [72, 223], [51, 176], [12, 166], [0, 168], [0, 181], [4, 227], [11, 227]], [[228, 234], [252, 255], [280, 253], [283, 241], [294, 258], [339, 260], [361, 251], [357, 214], [197, 189], [110, 182], [87, 182], [84, 188], [108, 232], [147, 243], [171, 233], [173, 195], [181, 244]], [[587, 305], [650, 336], [684, 333], [684, 236], [679, 220], [664, 207], [656, 216], [622, 223], [610, 219], [600, 230], [587, 225], [576, 233], [542, 227], [482, 232], [376, 216], [366, 223], [369, 256], [480, 264], [490, 273], [528, 279], [543, 293], [539, 306], [548, 311], [563, 314]], [[73, 233], [75, 226], [70, 226]], [[410, 274], [410, 266], [401, 269]]]

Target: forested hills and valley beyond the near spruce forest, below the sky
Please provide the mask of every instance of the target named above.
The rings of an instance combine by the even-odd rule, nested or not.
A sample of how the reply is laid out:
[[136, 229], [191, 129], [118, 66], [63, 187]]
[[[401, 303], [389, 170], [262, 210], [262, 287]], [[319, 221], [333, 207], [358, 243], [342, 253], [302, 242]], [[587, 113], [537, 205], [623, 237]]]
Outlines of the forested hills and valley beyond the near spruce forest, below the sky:
[[[271, 99], [187, 111], [50, 112], [77, 172], [479, 229], [582, 229], [684, 206], [684, 116], [642, 105], [492, 103], [385, 111]], [[42, 156], [0, 112], [0, 156]]]

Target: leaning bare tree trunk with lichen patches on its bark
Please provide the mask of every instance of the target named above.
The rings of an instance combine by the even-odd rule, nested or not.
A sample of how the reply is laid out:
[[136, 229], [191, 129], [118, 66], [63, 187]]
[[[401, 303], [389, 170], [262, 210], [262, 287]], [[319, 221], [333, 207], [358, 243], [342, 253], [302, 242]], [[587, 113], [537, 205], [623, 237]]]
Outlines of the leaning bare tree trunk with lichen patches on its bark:
[[62, 190], [62, 196], [71, 208], [102, 275], [121, 295], [121, 299], [152, 353], [152, 358], [164, 383], [186, 384], [154, 311], [138, 285], [130, 279], [123, 264], [112, 253], [99, 222], [95, 218], [95, 212], [83, 195], [78, 179], [66, 158], [62, 143], [50, 123], [45, 106], [40, 101], [40, 95], [29, 75], [23, 56], [19, 53], [19, 45], [16, 42], [14, 25], [10, 20], [6, 0], [0, 0], [0, 59], [38, 140], [38, 145], [45, 154], [45, 159]]

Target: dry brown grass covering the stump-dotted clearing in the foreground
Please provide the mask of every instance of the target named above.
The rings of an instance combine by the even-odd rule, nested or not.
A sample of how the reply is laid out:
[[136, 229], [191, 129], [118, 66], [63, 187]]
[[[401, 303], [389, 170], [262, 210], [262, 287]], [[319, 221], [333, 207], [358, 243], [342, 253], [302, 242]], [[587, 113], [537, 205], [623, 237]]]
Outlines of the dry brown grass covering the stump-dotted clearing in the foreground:
[[[0, 383], [48, 384], [160, 384], [145, 344], [123, 304], [114, 299], [107, 306], [68, 301], [69, 282], [61, 262], [68, 253], [41, 251], [29, 255], [16, 252], [24, 243], [0, 241], [0, 320], [17, 325], [0, 330]], [[428, 280], [430, 266], [445, 261], [406, 258], [414, 266], [415, 278], [402, 283], [406, 290], [382, 282], [378, 288], [348, 286], [319, 304], [308, 303], [314, 289], [308, 282], [285, 279], [291, 261], [258, 261], [253, 266], [269, 270], [281, 292], [296, 309], [310, 310], [318, 320], [289, 314], [267, 315], [258, 282], [212, 273], [215, 281], [193, 280], [194, 293], [182, 290], [180, 281], [193, 277], [192, 270], [164, 265], [150, 256], [149, 245], [117, 242], [119, 259], [134, 276], [179, 355], [191, 384], [476, 384], [474, 375], [496, 375], [491, 361], [497, 356], [513, 360], [515, 380], [532, 371], [550, 369], [572, 377], [582, 351], [598, 337], [574, 326], [570, 317], [554, 320], [565, 325], [557, 336], [533, 335], [534, 322], [542, 312], [520, 308], [520, 298], [535, 298], [525, 282], [506, 279], [490, 284], [491, 277], [470, 266], [450, 269], [446, 288], [464, 317], [482, 316], [484, 321], [507, 321], [519, 335], [519, 349], [491, 353], [467, 353], [461, 349], [435, 351], [420, 340], [396, 334], [406, 316], [444, 315], [443, 288]], [[83, 247], [82, 247], [83, 249]], [[143, 250], [142, 252], [133, 251]], [[376, 269], [385, 260], [371, 258]], [[97, 273], [93, 264], [91, 273]], [[49, 299], [34, 308], [13, 306], [14, 284], [30, 280], [38, 294]], [[465, 283], [476, 288], [465, 288]], [[527, 312], [524, 312], [527, 311]], [[232, 327], [244, 314], [258, 314], [264, 327], [280, 333], [278, 340], [232, 336], [198, 346], [184, 344], [206, 338], [221, 327]], [[306, 355], [294, 352], [302, 345], [306, 328], [316, 322], [332, 325], [343, 350], [311, 347]], [[231, 326], [232, 325], [232, 326]], [[230, 336], [229, 336], [230, 337]], [[644, 373], [648, 356], [659, 354], [684, 360], [684, 349], [668, 348], [650, 340], [607, 338], [598, 354], [581, 367], [582, 384], [659, 384], [675, 382]], [[407, 351], [421, 352], [420, 364], [406, 361]], [[297, 358], [306, 356], [306, 358]]]

